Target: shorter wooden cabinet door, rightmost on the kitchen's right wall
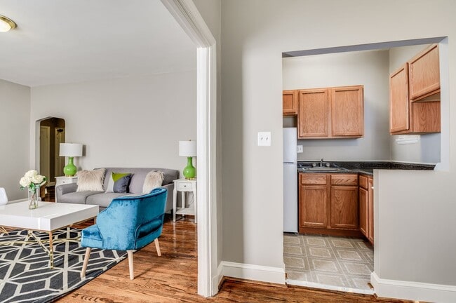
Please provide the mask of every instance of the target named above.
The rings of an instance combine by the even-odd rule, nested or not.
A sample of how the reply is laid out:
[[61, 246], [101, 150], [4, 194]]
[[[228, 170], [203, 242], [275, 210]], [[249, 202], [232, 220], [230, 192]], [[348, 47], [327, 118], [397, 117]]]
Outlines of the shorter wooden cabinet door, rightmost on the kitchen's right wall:
[[440, 92], [438, 44], [433, 44], [408, 62], [410, 100], [418, 101]]

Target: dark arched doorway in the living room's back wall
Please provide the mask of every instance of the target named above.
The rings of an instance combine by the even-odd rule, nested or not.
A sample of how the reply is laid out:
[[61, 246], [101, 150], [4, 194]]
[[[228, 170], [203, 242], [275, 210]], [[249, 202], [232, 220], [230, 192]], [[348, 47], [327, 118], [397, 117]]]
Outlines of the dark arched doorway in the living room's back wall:
[[63, 175], [65, 157], [59, 156], [60, 143], [65, 143], [65, 120], [51, 117], [39, 123], [40, 174], [48, 177], [48, 184]]

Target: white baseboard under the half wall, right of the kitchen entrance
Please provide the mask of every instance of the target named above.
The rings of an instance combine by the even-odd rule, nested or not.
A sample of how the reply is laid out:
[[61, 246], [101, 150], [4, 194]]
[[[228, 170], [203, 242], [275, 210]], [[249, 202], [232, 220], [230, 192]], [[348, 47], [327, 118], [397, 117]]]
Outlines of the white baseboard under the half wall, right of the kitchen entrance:
[[456, 286], [398, 281], [379, 278], [375, 271], [370, 274], [375, 293], [379, 297], [410, 299], [426, 302], [456, 302]]

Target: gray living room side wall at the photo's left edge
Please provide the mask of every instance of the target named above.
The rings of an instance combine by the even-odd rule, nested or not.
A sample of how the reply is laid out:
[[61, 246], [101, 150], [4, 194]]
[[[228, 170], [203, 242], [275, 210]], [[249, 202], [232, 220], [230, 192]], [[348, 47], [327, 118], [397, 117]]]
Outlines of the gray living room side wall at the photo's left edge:
[[30, 169], [30, 88], [0, 80], [0, 187], [8, 200], [27, 197], [19, 180]]

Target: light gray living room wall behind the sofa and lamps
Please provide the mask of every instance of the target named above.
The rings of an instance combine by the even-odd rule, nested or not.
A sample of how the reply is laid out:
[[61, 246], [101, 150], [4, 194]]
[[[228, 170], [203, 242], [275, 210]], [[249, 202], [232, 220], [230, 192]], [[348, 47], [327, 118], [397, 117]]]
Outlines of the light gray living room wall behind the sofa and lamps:
[[[34, 87], [30, 121], [47, 116], [65, 119], [67, 142], [85, 145], [79, 168], [182, 170], [178, 141], [196, 140], [196, 71]], [[31, 142], [34, 166], [34, 134]]]

